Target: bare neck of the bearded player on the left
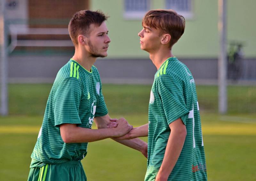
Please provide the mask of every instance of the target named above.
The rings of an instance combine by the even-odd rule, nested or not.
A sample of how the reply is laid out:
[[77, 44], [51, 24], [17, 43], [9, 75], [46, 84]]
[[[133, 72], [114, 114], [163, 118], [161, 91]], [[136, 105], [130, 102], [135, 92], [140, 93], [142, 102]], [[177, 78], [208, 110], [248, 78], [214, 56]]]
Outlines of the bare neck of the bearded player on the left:
[[82, 67], [84, 67], [89, 72], [91, 71], [92, 65], [96, 61], [96, 57], [92, 57], [87, 51], [76, 49], [75, 54], [72, 57], [76, 62], [78, 62]]

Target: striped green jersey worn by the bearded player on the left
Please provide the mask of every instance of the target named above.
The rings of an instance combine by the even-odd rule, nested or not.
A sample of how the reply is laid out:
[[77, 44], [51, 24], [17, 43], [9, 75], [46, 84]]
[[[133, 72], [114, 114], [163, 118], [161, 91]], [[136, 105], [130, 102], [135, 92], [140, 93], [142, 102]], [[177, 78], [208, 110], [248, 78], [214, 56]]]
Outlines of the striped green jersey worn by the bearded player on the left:
[[107, 113], [97, 68], [89, 72], [70, 59], [53, 83], [30, 168], [83, 159], [88, 143], [64, 143], [60, 124], [92, 128], [93, 118]]

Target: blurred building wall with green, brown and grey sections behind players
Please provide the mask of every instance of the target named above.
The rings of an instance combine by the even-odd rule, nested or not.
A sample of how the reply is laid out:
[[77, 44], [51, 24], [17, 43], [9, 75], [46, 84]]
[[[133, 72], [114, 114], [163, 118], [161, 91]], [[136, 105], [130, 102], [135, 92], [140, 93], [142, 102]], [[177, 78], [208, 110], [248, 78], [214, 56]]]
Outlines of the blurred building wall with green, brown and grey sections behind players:
[[[138, 32], [145, 12], [128, 17], [125, 0], [12, 0], [9, 22], [25, 23], [32, 28], [67, 28], [72, 15], [82, 9], [102, 10], [108, 19], [111, 43], [108, 57], [98, 59], [96, 66], [105, 83], [151, 83], [156, 68], [148, 53], [140, 50]], [[167, 0], [131, 0], [149, 2], [148, 9], [165, 8]], [[170, 0], [172, 1], [172, 0]], [[174, 1], [174, 0], [173, 0]], [[181, 2], [176, 1], [176, 2]], [[186, 0], [183, 0], [185, 2]], [[189, 1], [189, 0], [188, 0]], [[217, 0], [191, 0], [191, 14], [183, 14], [186, 29], [173, 54], [191, 70], [196, 81], [217, 83], [218, 7]], [[25, 4], [25, 5], [24, 5]], [[253, 8], [256, 1], [228, 0], [228, 40], [245, 43], [239, 79], [256, 80], [256, 24]], [[15, 11], [15, 8], [17, 11]], [[24, 12], [25, 11], [25, 12]], [[14, 16], [12, 13], [17, 13]], [[20, 14], [20, 15], [19, 15]], [[15, 19], [15, 17], [17, 19]], [[64, 40], [67, 35], [18, 35], [21, 40]], [[70, 41], [71, 42], [71, 41]], [[60, 49], [61, 50], [60, 50]], [[19, 47], [9, 57], [9, 81], [13, 83], [53, 82], [57, 71], [73, 55], [74, 47]]]

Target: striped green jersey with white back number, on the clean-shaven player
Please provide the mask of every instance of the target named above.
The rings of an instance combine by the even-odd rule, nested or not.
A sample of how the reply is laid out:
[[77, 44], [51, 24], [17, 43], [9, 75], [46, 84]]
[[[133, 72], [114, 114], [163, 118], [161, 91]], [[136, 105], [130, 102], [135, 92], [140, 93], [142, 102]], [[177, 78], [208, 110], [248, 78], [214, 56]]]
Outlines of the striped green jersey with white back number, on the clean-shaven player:
[[169, 124], [181, 118], [187, 136], [168, 181], [207, 180], [204, 143], [194, 78], [177, 58], [167, 59], [156, 72], [148, 109], [148, 169], [153, 181], [164, 159]]

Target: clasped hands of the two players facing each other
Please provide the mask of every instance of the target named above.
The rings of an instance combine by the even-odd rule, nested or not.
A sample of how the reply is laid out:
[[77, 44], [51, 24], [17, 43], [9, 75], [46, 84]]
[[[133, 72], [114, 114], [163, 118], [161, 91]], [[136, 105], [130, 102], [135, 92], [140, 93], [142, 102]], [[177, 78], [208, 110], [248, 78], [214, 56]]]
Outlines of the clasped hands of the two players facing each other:
[[124, 118], [120, 119], [110, 119], [108, 123], [108, 128], [112, 128], [113, 138], [123, 140], [123, 139], [132, 139], [131, 131], [134, 129]]

